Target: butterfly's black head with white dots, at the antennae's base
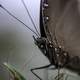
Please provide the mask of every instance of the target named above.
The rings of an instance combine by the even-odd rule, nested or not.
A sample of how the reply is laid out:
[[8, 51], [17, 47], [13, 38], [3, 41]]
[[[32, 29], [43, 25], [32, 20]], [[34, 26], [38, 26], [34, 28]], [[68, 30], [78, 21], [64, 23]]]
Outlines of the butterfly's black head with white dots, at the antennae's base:
[[53, 48], [53, 45], [49, 43], [46, 38], [41, 37], [34, 40], [35, 44], [42, 51], [43, 55], [45, 55], [49, 59], [51, 64], [54, 64], [53, 54], [55, 52], [55, 48]]

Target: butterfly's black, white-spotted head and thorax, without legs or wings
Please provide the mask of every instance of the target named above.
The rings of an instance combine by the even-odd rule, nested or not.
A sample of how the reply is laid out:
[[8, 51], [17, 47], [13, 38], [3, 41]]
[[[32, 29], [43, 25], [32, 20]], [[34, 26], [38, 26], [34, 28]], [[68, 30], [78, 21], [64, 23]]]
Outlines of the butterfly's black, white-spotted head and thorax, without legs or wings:
[[52, 65], [56, 67], [63, 67], [67, 64], [67, 59], [69, 58], [68, 53], [63, 51], [61, 47], [55, 47], [51, 41], [46, 38], [34, 38], [35, 44], [41, 50], [43, 55], [45, 55]]

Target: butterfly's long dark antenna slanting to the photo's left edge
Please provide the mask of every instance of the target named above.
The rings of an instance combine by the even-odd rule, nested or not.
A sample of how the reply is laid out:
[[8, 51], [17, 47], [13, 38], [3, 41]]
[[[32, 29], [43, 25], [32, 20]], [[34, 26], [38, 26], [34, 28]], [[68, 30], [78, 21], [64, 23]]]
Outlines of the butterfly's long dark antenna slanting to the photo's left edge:
[[26, 28], [28, 28], [31, 32], [33, 32], [36, 36], [38, 36], [38, 34], [33, 30], [31, 29], [28, 25], [26, 25], [24, 22], [22, 22], [20, 19], [18, 19], [17, 17], [15, 17], [12, 13], [10, 13], [4, 6], [2, 6], [0, 4], [0, 7], [5, 10], [10, 16], [12, 16], [14, 19], [16, 19], [17, 21], [19, 21], [20, 23], [22, 23]]

